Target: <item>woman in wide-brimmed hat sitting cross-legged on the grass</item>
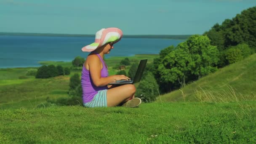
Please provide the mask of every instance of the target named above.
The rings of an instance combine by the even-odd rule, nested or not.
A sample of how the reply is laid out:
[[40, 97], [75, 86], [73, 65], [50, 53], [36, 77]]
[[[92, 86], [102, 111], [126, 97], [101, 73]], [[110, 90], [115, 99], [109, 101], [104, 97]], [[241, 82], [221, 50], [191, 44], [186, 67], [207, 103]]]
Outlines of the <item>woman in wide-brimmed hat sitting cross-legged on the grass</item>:
[[116, 80], [130, 80], [125, 75], [108, 76], [103, 59], [122, 36], [123, 32], [118, 28], [101, 29], [96, 32], [95, 42], [82, 48], [82, 51], [91, 52], [83, 64], [81, 75], [84, 107], [137, 107], [141, 104], [141, 99], [134, 98], [134, 85], [108, 85]]

